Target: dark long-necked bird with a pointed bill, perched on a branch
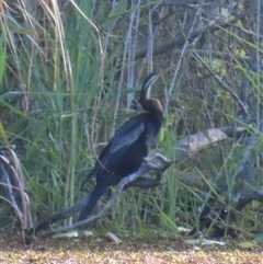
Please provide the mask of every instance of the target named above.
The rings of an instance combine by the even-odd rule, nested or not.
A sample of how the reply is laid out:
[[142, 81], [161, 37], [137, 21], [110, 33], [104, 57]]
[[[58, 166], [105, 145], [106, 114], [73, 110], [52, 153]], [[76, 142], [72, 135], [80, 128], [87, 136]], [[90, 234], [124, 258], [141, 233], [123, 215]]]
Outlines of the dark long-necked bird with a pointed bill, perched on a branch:
[[96, 184], [89, 202], [81, 210], [79, 221], [84, 220], [95, 203], [108, 186], [117, 185], [122, 179], [139, 170], [144, 158], [148, 156], [151, 142], [160, 131], [163, 115], [161, 103], [150, 99], [151, 84], [163, 73], [150, 73], [141, 87], [140, 103], [146, 111], [134, 116], [118, 128], [90, 172]]

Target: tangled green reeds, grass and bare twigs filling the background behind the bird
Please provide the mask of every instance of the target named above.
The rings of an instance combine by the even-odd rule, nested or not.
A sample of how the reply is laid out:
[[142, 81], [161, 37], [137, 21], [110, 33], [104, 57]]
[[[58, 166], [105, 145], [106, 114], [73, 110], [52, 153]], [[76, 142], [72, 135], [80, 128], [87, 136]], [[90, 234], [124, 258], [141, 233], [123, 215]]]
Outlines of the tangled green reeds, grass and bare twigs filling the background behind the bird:
[[[93, 182], [82, 182], [116, 128], [140, 111], [148, 72], [174, 65], [152, 91], [165, 116], [152, 151], [170, 159], [181, 138], [240, 124], [243, 77], [251, 113], [262, 107], [262, 73], [247, 65], [262, 53], [261, 1], [7, 0], [0, 10], [0, 142], [16, 146], [35, 222], [89, 193]], [[245, 139], [227, 140], [171, 167], [158, 188], [126, 191], [103, 227], [168, 236], [193, 227], [215, 179], [231, 192], [244, 147]], [[187, 173], [198, 183], [185, 182]], [[13, 213], [0, 203], [4, 226]], [[238, 230], [262, 229], [262, 204], [238, 219]]]

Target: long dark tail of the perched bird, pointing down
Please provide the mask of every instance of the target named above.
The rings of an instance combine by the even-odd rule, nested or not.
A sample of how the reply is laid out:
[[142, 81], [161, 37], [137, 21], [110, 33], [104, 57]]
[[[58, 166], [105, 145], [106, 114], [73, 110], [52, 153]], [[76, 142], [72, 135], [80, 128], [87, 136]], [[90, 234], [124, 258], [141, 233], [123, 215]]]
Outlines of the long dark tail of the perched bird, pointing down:
[[95, 203], [101, 198], [101, 196], [106, 192], [107, 190], [106, 184], [96, 184], [93, 191], [90, 194], [89, 202], [85, 205], [85, 207], [80, 211], [80, 216], [78, 221], [84, 220], [92, 211]]

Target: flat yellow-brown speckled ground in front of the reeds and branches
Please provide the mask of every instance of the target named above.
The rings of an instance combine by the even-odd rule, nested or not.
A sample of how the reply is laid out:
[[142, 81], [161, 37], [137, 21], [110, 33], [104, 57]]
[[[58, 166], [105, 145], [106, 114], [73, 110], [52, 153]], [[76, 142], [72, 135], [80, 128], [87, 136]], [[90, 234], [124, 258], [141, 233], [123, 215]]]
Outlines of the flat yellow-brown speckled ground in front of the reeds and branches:
[[24, 246], [21, 237], [0, 231], [0, 263], [243, 263], [263, 264], [263, 243], [240, 249], [237, 241], [226, 245], [193, 245], [173, 239], [125, 238], [122, 243], [105, 238], [60, 238], [35, 240]]

